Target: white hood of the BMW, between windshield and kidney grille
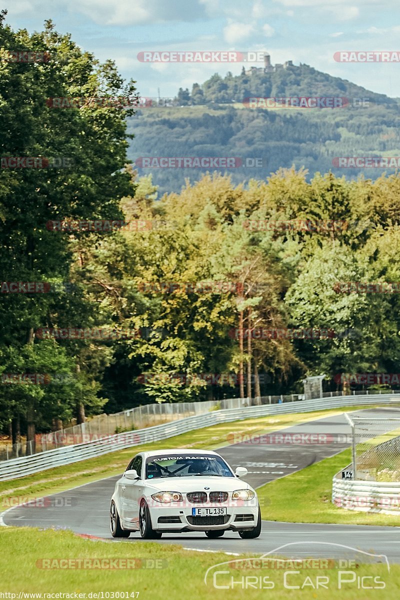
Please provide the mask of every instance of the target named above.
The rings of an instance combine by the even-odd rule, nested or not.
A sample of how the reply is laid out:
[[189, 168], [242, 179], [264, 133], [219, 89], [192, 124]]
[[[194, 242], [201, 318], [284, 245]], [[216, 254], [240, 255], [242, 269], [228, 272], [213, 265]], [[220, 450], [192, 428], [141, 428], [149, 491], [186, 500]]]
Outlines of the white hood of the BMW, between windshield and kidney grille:
[[234, 491], [252, 489], [251, 485], [237, 477], [167, 477], [165, 479], [146, 479], [146, 485], [161, 491]]

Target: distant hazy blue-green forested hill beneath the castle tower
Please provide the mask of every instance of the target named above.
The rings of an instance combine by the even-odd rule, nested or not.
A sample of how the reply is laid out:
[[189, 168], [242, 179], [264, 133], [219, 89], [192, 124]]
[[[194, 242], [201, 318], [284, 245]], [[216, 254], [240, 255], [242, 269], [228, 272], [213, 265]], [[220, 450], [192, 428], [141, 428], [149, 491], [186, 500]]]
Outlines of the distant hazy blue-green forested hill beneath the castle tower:
[[[371, 82], [371, 87], [373, 82]], [[350, 106], [336, 109], [251, 109], [248, 97], [341, 97]], [[353, 106], [364, 98], [364, 106]], [[382, 168], [343, 169], [335, 157], [400, 156], [399, 102], [347, 80], [321, 73], [308, 65], [281, 68], [273, 73], [213, 75], [191, 92], [180, 90], [173, 107], [141, 109], [130, 118], [135, 134], [129, 157], [238, 157], [258, 158], [262, 166], [226, 169], [234, 183], [265, 179], [279, 167], [306, 167], [315, 172], [375, 179]], [[261, 163], [260, 163], [261, 164]], [[160, 193], [179, 191], [185, 178], [196, 181], [207, 168], [141, 168], [152, 173]], [[222, 172], [225, 169], [219, 169]], [[394, 169], [386, 169], [392, 173]]]

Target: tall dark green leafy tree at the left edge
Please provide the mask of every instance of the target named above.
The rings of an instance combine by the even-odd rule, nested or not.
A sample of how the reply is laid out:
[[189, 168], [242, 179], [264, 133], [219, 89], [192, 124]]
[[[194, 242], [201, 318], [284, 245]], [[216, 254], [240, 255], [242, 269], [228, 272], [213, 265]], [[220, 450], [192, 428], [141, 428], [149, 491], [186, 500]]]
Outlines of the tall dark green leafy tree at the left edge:
[[[93, 55], [82, 52], [69, 35], [58, 34], [51, 21], [46, 22], [43, 32], [32, 35], [26, 30], [14, 32], [2, 23], [0, 41], [3, 52], [24, 48], [50, 55], [49, 62], [0, 62], [2, 155], [40, 157], [42, 167], [1, 169], [0, 243], [5, 250], [0, 257], [1, 271], [5, 281], [46, 285], [46, 293], [2, 295], [0, 315], [5, 326], [0, 350], [5, 352], [5, 346], [12, 344], [26, 360], [26, 367], [16, 365], [17, 373], [24, 368], [31, 372], [28, 367], [32, 361], [35, 364], [35, 357], [44, 373], [47, 359], [56, 373], [64, 373], [67, 367], [70, 373], [76, 373], [76, 357], [70, 356], [71, 362], [68, 353], [58, 349], [57, 344], [48, 353], [47, 346], [35, 339], [35, 331], [55, 322], [60, 307], [71, 294], [63, 282], [70, 280], [69, 242], [74, 235], [50, 231], [46, 223], [63, 218], [121, 215], [118, 200], [131, 191], [129, 175], [122, 172], [128, 145], [125, 116], [132, 115], [133, 110], [118, 105], [55, 109], [46, 101], [71, 96], [132, 98], [135, 88], [133, 82], [124, 84], [112, 61], [99, 64]], [[68, 159], [66, 164], [70, 167], [47, 166], [58, 165], [63, 158]], [[70, 304], [72, 307], [73, 302]], [[67, 311], [64, 315], [66, 319], [74, 316], [67, 315]], [[91, 374], [86, 376], [91, 386]], [[6, 392], [14, 398], [19, 395], [10, 389], [2, 390], [3, 398]], [[61, 415], [59, 418], [69, 415], [68, 410], [63, 414], [59, 411], [59, 394], [50, 393], [50, 386], [42, 389], [24, 384], [21, 389], [18, 410], [26, 418], [28, 442], [34, 440], [35, 427], [46, 417], [46, 412], [35, 408], [39, 399], [49, 414]], [[79, 406], [81, 390], [76, 385], [71, 385], [70, 390]]]

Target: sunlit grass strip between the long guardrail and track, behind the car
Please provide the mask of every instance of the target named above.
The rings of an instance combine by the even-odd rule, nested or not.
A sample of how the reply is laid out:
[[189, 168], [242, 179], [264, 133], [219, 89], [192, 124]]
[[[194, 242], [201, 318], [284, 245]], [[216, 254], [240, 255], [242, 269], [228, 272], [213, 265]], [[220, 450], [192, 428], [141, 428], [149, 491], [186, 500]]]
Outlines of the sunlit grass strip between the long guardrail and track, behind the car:
[[[357, 407], [357, 408], [362, 408]], [[369, 406], [372, 408], [372, 406]], [[15, 503], [19, 497], [47, 496], [59, 491], [69, 490], [78, 485], [113, 477], [122, 473], [131, 458], [143, 450], [166, 448], [207, 448], [218, 449], [232, 443], [232, 434], [261, 434], [276, 431], [300, 422], [311, 421], [331, 415], [339, 415], [347, 410], [327, 409], [314, 412], [276, 415], [245, 419], [204, 427], [179, 436], [169, 437], [161, 442], [134, 446], [116, 452], [110, 452], [97, 458], [89, 458], [79, 463], [48, 469], [34, 475], [27, 475], [11, 481], [0, 481], [0, 512], [9, 508], [10, 498]], [[355, 410], [354, 407], [348, 410]]]

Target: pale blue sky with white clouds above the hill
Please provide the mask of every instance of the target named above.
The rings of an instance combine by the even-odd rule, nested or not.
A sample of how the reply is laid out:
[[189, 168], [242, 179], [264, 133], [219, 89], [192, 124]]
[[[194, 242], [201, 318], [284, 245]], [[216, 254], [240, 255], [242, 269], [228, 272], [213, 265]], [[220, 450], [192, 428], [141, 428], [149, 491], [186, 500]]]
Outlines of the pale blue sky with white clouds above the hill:
[[272, 64], [306, 63], [400, 97], [400, 63], [333, 59], [344, 50], [399, 51], [399, 0], [5, 0], [2, 8], [13, 29], [41, 31], [52, 19], [83, 50], [113, 59], [142, 96], [157, 97], [158, 88], [175, 96], [213, 73], [239, 74], [242, 64], [141, 62], [140, 52], [236, 50], [266, 51]]

